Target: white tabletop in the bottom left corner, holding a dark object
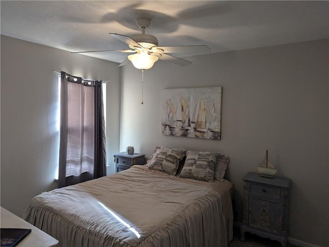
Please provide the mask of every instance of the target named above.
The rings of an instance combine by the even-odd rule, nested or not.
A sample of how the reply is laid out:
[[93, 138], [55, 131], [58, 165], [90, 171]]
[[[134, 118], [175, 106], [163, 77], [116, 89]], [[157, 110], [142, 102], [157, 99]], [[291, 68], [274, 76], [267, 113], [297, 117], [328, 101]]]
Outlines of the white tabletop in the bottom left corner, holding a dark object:
[[36, 228], [34, 225], [26, 222], [20, 217], [10, 213], [5, 208], [1, 207], [1, 228], [24, 228], [32, 229], [32, 232], [27, 235], [17, 247], [53, 247], [57, 246], [58, 240]]

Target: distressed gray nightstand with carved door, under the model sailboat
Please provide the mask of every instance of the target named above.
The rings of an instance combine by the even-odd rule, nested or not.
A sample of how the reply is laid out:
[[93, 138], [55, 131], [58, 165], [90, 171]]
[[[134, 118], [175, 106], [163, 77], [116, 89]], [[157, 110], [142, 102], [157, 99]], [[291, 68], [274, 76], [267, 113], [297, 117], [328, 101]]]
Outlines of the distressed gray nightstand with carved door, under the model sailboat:
[[286, 246], [290, 179], [248, 173], [243, 182], [241, 241], [245, 241], [245, 232], [249, 232]]

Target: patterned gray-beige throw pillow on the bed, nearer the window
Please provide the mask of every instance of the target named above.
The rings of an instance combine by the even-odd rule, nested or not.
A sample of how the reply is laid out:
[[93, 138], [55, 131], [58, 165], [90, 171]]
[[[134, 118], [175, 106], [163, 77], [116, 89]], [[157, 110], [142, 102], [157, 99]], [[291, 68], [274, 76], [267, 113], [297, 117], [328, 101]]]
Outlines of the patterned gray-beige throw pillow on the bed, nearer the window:
[[179, 161], [184, 158], [185, 149], [157, 147], [146, 166], [169, 175], [176, 175]]

